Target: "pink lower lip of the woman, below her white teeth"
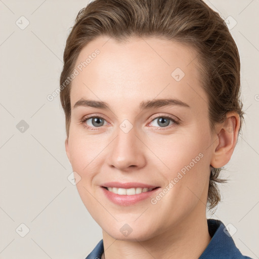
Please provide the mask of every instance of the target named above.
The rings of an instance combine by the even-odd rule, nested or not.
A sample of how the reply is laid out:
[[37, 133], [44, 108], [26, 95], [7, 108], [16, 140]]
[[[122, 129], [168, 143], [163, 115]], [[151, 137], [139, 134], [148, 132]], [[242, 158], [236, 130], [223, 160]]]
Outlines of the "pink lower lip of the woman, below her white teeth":
[[103, 189], [103, 192], [105, 194], [105, 196], [112, 201], [113, 203], [117, 204], [117, 205], [122, 205], [122, 206], [128, 206], [128, 205], [133, 205], [136, 204], [139, 201], [145, 200], [147, 198], [150, 198], [151, 196], [154, 195], [154, 193], [160, 189], [160, 188], [156, 188], [152, 191], [149, 192], [142, 192], [139, 194], [134, 194], [134, 195], [119, 195], [119, 194], [115, 194], [113, 192], [110, 192], [108, 190], [106, 190], [104, 187], [101, 187]]

